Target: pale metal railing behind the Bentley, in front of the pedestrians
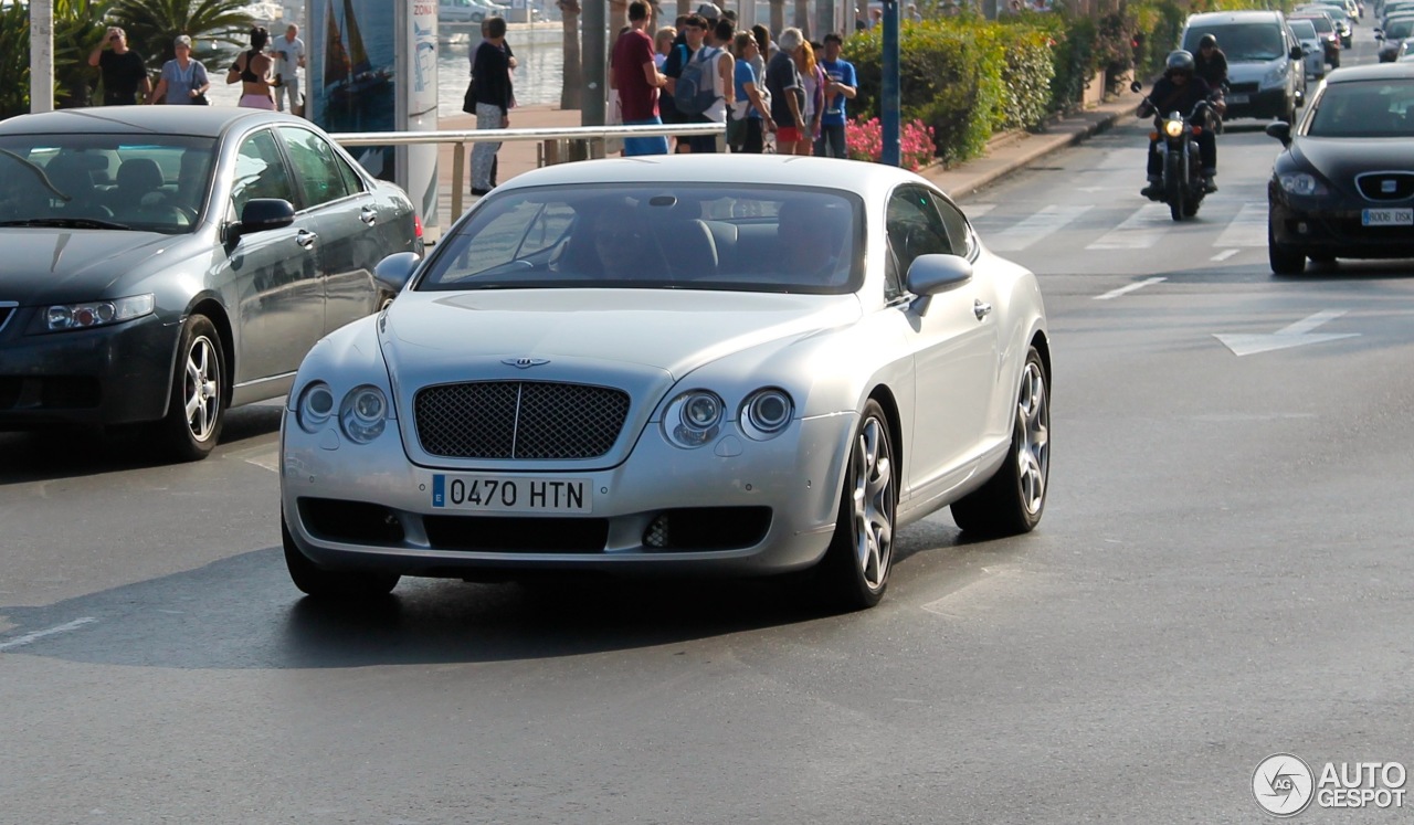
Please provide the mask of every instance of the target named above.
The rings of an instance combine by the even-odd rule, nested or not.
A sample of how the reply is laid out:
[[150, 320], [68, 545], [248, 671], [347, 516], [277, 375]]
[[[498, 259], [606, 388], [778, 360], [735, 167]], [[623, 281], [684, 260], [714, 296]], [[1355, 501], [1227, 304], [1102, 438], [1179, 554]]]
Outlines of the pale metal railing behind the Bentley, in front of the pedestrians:
[[450, 143], [451, 213], [461, 215], [461, 182], [467, 172], [468, 143], [505, 143], [537, 140], [544, 144], [540, 165], [604, 157], [604, 141], [622, 137], [717, 136], [725, 134], [724, 123], [665, 123], [649, 126], [567, 126], [563, 129], [448, 129], [443, 131], [344, 131], [331, 134], [339, 146], [411, 146]]

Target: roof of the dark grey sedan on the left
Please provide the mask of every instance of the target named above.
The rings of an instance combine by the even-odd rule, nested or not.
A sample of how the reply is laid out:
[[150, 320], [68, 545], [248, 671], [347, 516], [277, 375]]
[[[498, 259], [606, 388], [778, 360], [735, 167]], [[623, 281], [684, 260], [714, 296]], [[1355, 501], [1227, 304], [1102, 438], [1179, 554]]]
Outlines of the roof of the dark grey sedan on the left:
[[103, 106], [20, 114], [0, 121], [0, 134], [188, 134], [219, 137], [235, 124], [303, 123], [308, 120], [238, 106]]

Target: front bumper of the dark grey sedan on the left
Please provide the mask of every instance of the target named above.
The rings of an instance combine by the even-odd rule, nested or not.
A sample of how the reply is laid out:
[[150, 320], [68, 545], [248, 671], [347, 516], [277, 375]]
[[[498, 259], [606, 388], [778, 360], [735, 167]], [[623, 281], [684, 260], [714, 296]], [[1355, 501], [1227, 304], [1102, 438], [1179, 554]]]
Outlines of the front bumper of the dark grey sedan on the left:
[[38, 312], [21, 307], [0, 331], [0, 429], [132, 424], [165, 414], [180, 326], [146, 315], [25, 335]]

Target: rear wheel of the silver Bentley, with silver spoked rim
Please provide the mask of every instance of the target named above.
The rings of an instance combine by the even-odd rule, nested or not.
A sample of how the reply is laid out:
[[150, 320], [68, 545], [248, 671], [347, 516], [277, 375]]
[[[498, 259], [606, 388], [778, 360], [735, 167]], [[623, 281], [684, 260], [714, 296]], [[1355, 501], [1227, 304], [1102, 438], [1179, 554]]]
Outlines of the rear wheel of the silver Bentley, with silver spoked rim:
[[1019, 535], [1041, 523], [1051, 477], [1051, 376], [1036, 348], [1027, 352], [1007, 459], [986, 485], [953, 501], [963, 533]]

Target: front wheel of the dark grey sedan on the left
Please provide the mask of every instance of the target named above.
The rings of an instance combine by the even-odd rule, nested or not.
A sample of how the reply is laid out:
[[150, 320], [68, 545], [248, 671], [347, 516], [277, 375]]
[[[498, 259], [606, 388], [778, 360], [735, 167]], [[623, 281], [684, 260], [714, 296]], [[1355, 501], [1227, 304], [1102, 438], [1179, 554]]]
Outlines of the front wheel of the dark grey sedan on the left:
[[221, 441], [228, 396], [225, 348], [205, 315], [191, 315], [177, 345], [177, 366], [167, 415], [157, 422], [157, 441], [175, 461], [199, 461]]

